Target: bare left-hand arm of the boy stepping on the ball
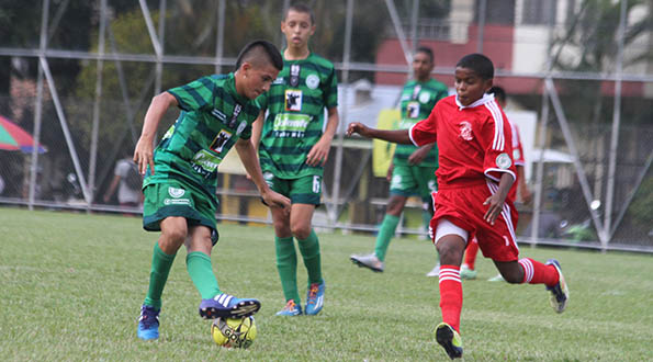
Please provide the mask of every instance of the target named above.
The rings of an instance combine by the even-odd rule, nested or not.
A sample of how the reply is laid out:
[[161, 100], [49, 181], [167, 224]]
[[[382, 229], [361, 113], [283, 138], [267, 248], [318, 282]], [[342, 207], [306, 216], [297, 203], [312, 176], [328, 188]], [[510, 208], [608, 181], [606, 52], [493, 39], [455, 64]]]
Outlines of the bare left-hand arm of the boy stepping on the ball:
[[140, 138], [138, 138], [138, 143], [134, 149], [134, 162], [138, 166], [140, 174], [145, 174], [148, 165], [151, 174], [154, 174], [154, 137], [166, 111], [170, 106], [177, 105], [177, 99], [168, 92], [155, 95], [151, 103], [149, 103], [149, 108], [145, 114], [145, 121], [143, 122]]

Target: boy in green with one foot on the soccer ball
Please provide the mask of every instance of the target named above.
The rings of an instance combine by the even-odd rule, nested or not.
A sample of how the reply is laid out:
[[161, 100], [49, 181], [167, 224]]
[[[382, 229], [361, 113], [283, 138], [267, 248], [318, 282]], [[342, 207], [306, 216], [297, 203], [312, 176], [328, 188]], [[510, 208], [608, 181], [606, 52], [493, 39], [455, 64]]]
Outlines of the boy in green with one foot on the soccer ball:
[[[201, 294], [200, 316], [239, 318], [258, 312], [257, 299], [241, 299], [219, 290], [211, 265], [217, 242], [215, 196], [217, 166], [235, 146], [263, 201], [280, 213], [290, 200], [268, 186], [249, 142], [260, 113], [256, 98], [269, 90], [283, 61], [266, 41], [248, 44], [236, 71], [200, 78], [156, 95], [147, 110], [134, 161], [145, 176], [143, 227], [161, 231], [155, 244], [149, 290], [140, 310], [138, 338], [159, 337], [161, 294], [177, 250], [185, 245], [188, 272]], [[181, 112], [153, 151], [157, 126], [171, 106]], [[149, 167], [149, 168], [148, 168]]]

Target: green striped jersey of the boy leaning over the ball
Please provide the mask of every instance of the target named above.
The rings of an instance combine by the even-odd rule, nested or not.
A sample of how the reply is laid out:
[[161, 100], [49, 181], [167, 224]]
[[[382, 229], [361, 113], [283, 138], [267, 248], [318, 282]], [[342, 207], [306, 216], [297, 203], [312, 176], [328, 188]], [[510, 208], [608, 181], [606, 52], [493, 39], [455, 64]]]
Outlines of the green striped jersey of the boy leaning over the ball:
[[217, 166], [238, 138], [249, 139], [260, 106], [236, 92], [234, 73], [203, 77], [168, 93], [181, 112], [155, 149], [155, 174], [144, 185], [177, 179], [215, 201]]

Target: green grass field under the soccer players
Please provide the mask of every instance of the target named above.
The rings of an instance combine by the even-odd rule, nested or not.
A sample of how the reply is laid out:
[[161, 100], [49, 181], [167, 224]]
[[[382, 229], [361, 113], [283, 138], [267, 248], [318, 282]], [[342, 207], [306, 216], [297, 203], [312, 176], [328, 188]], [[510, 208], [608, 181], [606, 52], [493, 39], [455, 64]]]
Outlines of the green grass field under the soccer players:
[[[164, 293], [161, 338], [136, 338], [157, 234], [137, 217], [0, 208], [0, 360], [446, 361], [432, 329], [440, 320], [429, 241], [395, 239], [384, 273], [349, 262], [373, 238], [322, 234], [326, 304], [315, 317], [275, 317], [283, 297], [268, 226], [218, 226], [213, 268], [221, 289], [257, 297], [258, 337], [249, 350], [215, 346], [198, 315], [200, 296], [180, 250]], [[523, 247], [558, 258], [570, 283], [556, 315], [541, 285], [464, 281], [464, 359], [643, 361], [653, 359], [651, 256]], [[301, 285], [306, 273], [299, 267]], [[303, 290], [303, 287], [302, 287]], [[302, 295], [304, 292], [301, 292]]]

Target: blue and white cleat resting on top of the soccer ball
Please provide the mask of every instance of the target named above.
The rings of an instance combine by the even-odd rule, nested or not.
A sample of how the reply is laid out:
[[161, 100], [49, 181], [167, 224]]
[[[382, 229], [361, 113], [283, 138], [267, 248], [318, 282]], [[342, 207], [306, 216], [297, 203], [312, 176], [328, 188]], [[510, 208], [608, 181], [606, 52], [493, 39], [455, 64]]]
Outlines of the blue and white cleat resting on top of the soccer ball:
[[233, 295], [222, 293], [211, 299], [200, 303], [200, 316], [204, 319], [215, 318], [245, 318], [261, 308], [257, 299], [240, 299]]

